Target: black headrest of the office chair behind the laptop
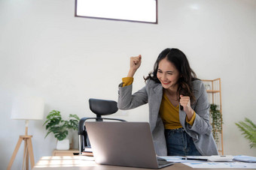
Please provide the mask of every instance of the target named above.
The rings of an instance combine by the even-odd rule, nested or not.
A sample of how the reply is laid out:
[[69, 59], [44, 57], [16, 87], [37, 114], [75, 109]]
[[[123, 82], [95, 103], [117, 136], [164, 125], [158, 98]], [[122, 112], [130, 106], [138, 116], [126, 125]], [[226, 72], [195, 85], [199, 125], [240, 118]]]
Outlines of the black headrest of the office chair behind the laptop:
[[90, 110], [96, 115], [111, 115], [117, 112], [117, 102], [114, 100], [89, 99]]

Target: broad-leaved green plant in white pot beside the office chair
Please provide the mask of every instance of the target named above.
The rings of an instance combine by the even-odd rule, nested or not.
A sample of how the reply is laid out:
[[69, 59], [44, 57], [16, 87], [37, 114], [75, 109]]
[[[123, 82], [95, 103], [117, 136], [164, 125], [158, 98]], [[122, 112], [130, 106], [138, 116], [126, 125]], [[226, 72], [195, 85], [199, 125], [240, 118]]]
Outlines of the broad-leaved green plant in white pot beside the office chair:
[[46, 119], [43, 125], [46, 125], [47, 134], [44, 138], [53, 133], [57, 139], [56, 149], [69, 150], [69, 139], [66, 139], [66, 137], [69, 135], [69, 130], [78, 130], [78, 122], [80, 120], [78, 115], [70, 114], [69, 120], [65, 121], [59, 111], [53, 110], [47, 115]]

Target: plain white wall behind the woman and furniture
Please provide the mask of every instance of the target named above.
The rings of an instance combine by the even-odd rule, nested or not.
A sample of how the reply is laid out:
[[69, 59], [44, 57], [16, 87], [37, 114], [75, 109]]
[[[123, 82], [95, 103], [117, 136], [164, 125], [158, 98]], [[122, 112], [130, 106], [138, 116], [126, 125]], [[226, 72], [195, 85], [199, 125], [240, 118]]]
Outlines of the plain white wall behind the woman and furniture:
[[[234, 124], [245, 117], [256, 122], [255, 1], [159, 0], [158, 6], [154, 25], [78, 18], [74, 0], [0, 0], [1, 169], [24, 134], [24, 122], [10, 118], [14, 96], [44, 97], [44, 117], [52, 109], [65, 118], [70, 113], [93, 116], [88, 99], [117, 100], [130, 56], [142, 54], [136, 91], [166, 47], [184, 51], [201, 79], [221, 78], [224, 154], [256, 156]], [[115, 117], [148, 121], [148, 106]], [[29, 124], [35, 161], [50, 156], [56, 146], [53, 136], [44, 139], [42, 124]], [[20, 169], [22, 153], [23, 146], [13, 169]]]

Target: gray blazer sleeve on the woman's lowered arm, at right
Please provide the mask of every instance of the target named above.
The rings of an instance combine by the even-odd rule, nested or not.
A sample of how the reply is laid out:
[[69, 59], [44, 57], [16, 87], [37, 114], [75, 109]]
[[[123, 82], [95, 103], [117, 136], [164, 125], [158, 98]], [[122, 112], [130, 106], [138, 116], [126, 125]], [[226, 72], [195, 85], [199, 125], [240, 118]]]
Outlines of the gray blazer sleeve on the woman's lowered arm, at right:
[[[197, 101], [194, 104], [194, 111], [196, 112], [196, 118], [193, 126], [186, 124], [187, 130], [194, 131], [195, 133], [210, 135], [212, 133], [212, 125], [209, 121], [209, 101], [204, 88], [203, 82], [197, 80]], [[192, 132], [191, 132], [192, 133]]]

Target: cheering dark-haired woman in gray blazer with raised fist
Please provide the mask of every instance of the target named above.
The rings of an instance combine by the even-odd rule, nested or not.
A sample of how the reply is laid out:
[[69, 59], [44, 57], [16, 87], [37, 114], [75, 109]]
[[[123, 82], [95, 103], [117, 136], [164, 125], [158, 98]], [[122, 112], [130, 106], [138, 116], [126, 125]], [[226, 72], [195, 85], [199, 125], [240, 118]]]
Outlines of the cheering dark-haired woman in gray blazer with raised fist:
[[206, 90], [184, 53], [164, 49], [145, 79], [145, 87], [132, 94], [133, 76], [141, 63], [141, 55], [130, 58], [130, 70], [120, 84], [117, 105], [119, 109], [134, 109], [148, 103], [157, 155], [218, 155]]

